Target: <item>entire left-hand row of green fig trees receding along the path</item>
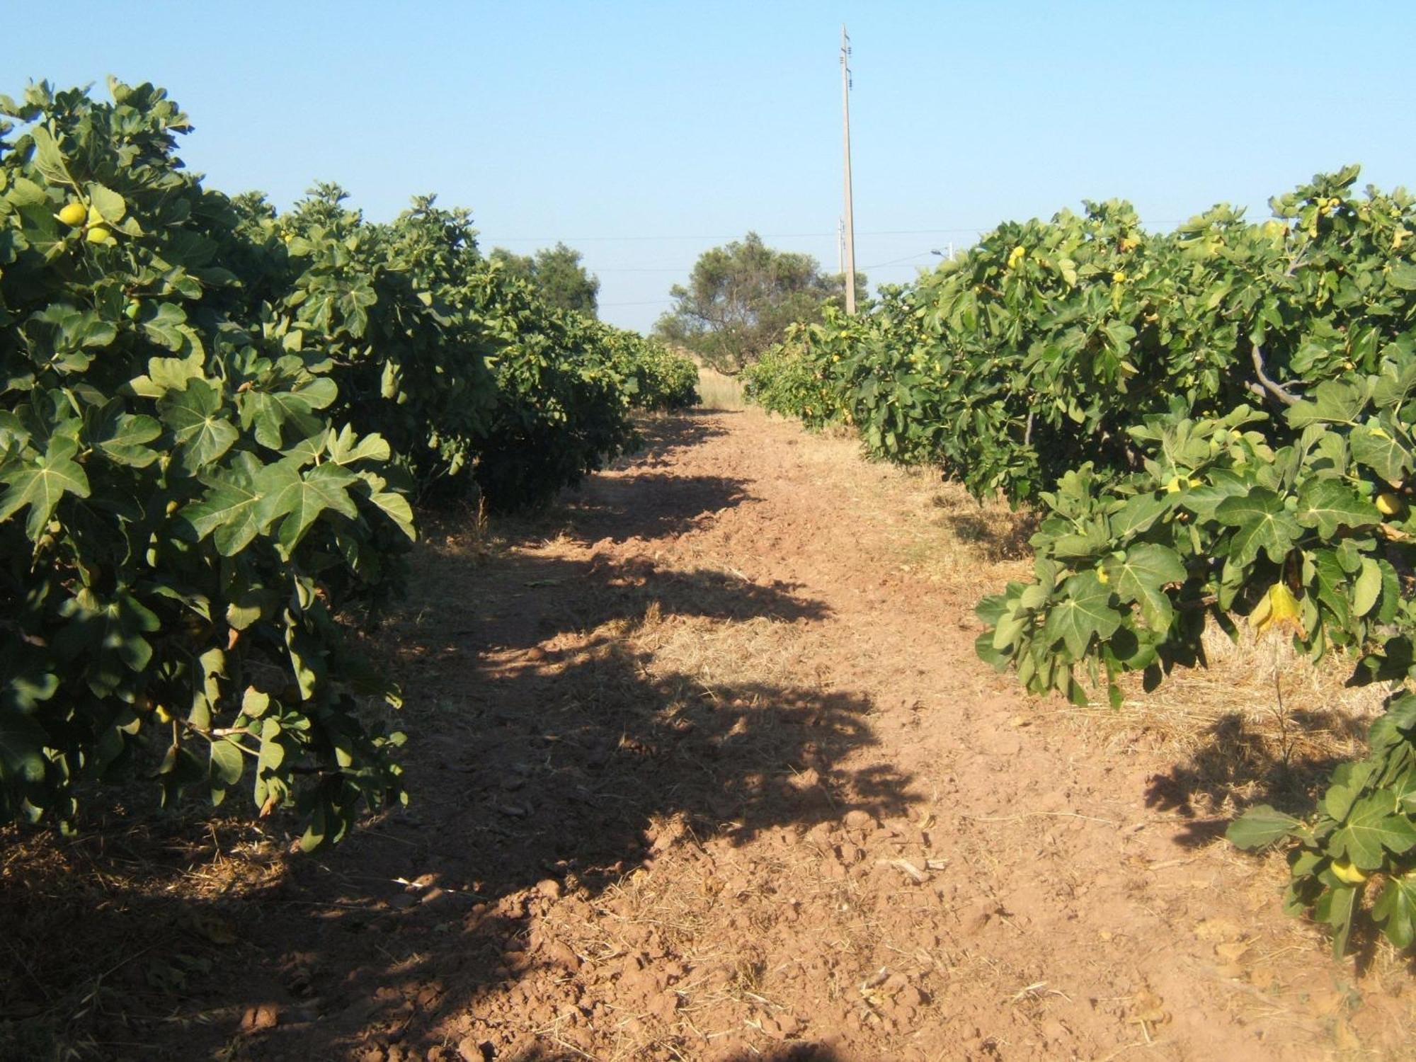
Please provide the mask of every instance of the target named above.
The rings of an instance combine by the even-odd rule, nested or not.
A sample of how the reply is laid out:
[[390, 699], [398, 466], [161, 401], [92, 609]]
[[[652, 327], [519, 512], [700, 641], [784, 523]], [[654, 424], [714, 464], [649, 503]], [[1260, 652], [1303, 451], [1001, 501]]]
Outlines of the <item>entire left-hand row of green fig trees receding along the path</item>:
[[205, 188], [166, 93], [110, 91], [0, 96], [0, 818], [137, 770], [314, 847], [405, 799], [337, 617], [399, 590], [416, 510], [542, 503], [697, 375], [432, 197]]

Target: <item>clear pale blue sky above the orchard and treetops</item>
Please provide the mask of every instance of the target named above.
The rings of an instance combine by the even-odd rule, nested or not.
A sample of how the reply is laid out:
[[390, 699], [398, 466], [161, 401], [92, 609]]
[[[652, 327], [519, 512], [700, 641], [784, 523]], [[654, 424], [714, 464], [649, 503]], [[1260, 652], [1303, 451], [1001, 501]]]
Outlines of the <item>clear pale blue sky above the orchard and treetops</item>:
[[843, 21], [872, 282], [1082, 198], [1170, 225], [1221, 200], [1263, 215], [1348, 161], [1416, 184], [1410, 0], [69, 0], [6, 50], [0, 92], [153, 81], [212, 187], [283, 208], [337, 180], [374, 219], [436, 191], [484, 249], [581, 249], [602, 317], [647, 329], [748, 229], [835, 268]]

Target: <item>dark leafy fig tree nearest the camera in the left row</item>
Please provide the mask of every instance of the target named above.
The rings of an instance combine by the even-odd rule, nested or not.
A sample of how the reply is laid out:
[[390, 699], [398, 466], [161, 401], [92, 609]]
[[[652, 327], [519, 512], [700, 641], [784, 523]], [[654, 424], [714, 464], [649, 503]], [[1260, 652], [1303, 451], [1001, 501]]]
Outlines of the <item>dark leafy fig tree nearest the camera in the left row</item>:
[[239, 215], [177, 161], [181, 112], [112, 93], [0, 99], [0, 816], [126, 769], [249, 787], [313, 847], [402, 797], [360, 701], [396, 692], [334, 616], [396, 582], [404, 477], [331, 418], [323, 333], [228, 313]]

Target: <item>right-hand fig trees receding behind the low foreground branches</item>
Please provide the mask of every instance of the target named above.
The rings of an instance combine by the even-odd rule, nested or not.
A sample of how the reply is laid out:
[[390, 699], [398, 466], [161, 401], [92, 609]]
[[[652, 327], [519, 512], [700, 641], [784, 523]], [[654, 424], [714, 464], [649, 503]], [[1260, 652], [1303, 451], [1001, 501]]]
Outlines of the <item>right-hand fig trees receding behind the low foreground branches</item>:
[[[937, 464], [980, 497], [1035, 500], [1087, 460], [1134, 470], [1127, 429], [1172, 399], [1277, 412], [1304, 385], [1375, 372], [1410, 329], [1413, 200], [1355, 180], [1315, 177], [1263, 224], [1215, 207], [1153, 234], [1110, 201], [1000, 225], [864, 321], [797, 329], [752, 389], [807, 421], [830, 409], [872, 455]], [[830, 401], [796, 401], [806, 378]]]

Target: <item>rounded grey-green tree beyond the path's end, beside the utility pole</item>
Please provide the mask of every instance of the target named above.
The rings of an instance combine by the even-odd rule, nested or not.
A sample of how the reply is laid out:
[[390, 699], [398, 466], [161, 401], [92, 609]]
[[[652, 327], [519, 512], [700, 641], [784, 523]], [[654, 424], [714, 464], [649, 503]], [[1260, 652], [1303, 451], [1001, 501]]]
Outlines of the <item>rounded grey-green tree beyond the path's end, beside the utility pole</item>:
[[[675, 304], [654, 324], [656, 334], [735, 374], [777, 343], [792, 321], [817, 320], [827, 302], [844, 302], [845, 279], [823, 273], [811, 255], [773, 251], [749, 232], [700, 255], [688, 285], [668, 293]], [[862, 273], [855, 275], [855, 297], [865, 300]]]

